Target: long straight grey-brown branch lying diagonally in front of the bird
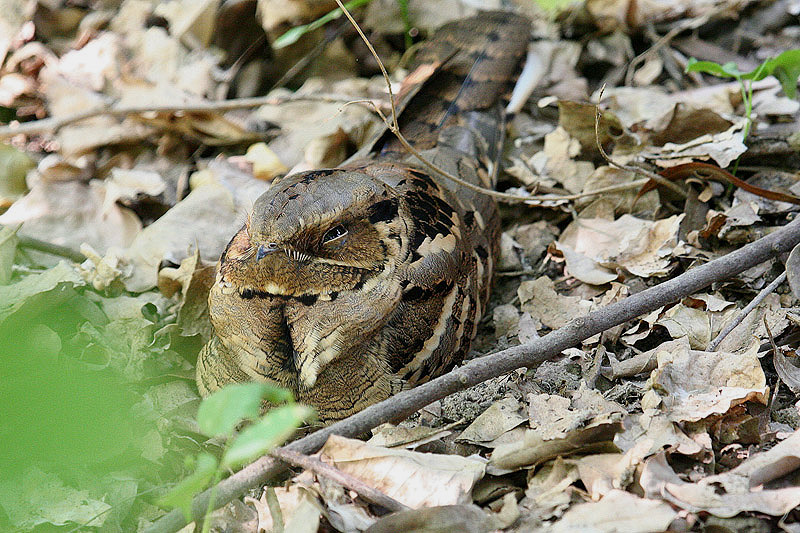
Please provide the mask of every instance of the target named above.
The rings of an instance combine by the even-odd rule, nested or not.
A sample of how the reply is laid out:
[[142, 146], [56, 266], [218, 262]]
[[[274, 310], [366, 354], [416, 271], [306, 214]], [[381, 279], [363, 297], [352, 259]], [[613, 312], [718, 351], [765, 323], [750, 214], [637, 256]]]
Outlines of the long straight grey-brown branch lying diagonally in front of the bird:
[[[598, 309], [584, 317], [576, 318], [563, 328], [544, 337], [473, 359], [444, 376], [414, 389], [400, 392], [345, 420], [288, 444], [283, 449], [306, 454], [313, 453], [322, 447], [330, 435], [348, 437], [362, 435], [384, 422], [406, 418], [424, 406], [454, 392], [502, 376], [518, 368], [535, 367], [557, 357], [563, 350], [575, 346], [593, 335], [647, 314], [663, 305], [676, 302], [711, 283], [730, 279], [777, 254], [788, 252], [798, 243], [800, 243], [800, 218], [728, 255], [692, 268], [680, 276]], [[216, 505], [222, 506], [238, 498], [248, 489], [263, 485], [284, 469], [285, 465], [272, 457], [265, 456], [258, 459], [216, 486]], [[192, 504], [194, 516], [203, 516], [211, 490], [206, 490], [195, 497]], [[186, 520], [183, 513], [176, 509], [153, 523], [146, 531], [148, 533], [173, 532], [184, 525], [186, 525]]]

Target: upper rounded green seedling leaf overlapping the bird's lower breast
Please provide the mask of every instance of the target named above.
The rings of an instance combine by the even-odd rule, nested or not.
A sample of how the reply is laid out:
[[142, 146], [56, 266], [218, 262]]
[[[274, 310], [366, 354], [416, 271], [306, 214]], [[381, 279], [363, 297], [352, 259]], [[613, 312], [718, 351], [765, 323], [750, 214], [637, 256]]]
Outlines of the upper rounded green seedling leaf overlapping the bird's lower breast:
[[258, 416], [267, 388], [264, 383], [240, 383], [216, 391], [197, 411], [200, 431], [209, 436], [230, 435], [239, 422]]

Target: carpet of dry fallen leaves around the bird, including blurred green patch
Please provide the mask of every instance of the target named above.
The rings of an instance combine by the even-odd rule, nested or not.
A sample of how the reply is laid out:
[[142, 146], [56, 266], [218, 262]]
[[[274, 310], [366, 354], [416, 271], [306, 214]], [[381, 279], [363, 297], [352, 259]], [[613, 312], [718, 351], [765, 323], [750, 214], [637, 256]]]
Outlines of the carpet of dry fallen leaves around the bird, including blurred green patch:
[[[236, 44], [215, 40], [230, 15], [214, 2], [0, 3], [0, 122], [11, 125], [0, 126], [0, 370], [13, 383], [2, 393], [3, 409], [13, 407], [0, 431], [11, 446], [0, 465], [3, 528], [132, 531], [163, 514], [152, 495], [192, 472], [184, 457], [216, 446], [196, 425], [192, 378], [210, 334], [213, 263], [272, 179], [335, 166], [380, 126], [370, 105], [347, 104], [386, 106], [374, 60], [347, 25], [266, 44], [333, 5], [257, 4], [257, 15], [240, 15]], [[373, 0], [358, 12], [395, 82], [401, 4]], [[500, 272], [473, 355], [624, 302], [798, 209], [701, 172], [680, 173], [683, 198], [645, 188], [636, 171], [704, 162], [797, 194], [800, 106], [784, 92], [796, 65], [783, 63], [791, 55], [769, 63], [777, 79], [753, 70], [792, 42], [793, 22], [772, 23], [754, 2], [579, 4], [570, 15], [565, 3], [515, 3], [534, 19], [538, 62], [512, 104], [501, 189], [532, 199], [502, 207]], [[775, 6], [781, 20], [796, 15], [791, 2]], [[408, 2], [417, 40], [474, 11], [459, 0]], [[744, 36], [735, 43], [731, 26]], [[330, 45], [315, 52], [322, 39]], [[247, 46], [266, 52], [247, 57]], [[689, 56], [721, 66], [704, 72], [753, 72], [734, 82], [685, 73]], [[306, 67], [267, 94], [264, 80], [301, 58]], [[109, 106], [131, 111], [100, 112]], [[60, 260], [42, 243], [86, 259]], [[767, 296], [709, 349], [783, 270], [791, 291]], [[412, 509], [383, 516], [303, 472], [273, 489], [285, 530], [702, 530], [755, 520], [794, 531], [797, 286], [795, 251], [384, 425], [368, 443], [332, 437], [323, 461]], [[215, 523], [273, 530], [268, 492], [217, 511]]]

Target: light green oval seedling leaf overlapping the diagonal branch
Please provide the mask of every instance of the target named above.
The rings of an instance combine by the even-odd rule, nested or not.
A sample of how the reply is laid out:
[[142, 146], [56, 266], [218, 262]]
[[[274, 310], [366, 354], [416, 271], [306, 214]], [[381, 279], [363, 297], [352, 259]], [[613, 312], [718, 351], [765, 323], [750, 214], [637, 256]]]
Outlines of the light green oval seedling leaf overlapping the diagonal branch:
[[222, 464], [236, 468], [257, 459], [283, 444], [313, 413], [310, 407], [299, 404], [272, 409], [236, 437], [225, 451]]

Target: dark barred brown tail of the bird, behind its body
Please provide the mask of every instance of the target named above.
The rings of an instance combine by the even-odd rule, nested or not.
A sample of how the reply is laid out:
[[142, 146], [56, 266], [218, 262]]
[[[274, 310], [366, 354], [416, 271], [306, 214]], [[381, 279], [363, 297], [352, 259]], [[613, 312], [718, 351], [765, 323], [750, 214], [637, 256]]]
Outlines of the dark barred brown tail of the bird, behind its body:
[[[403, 136], [420, 151], [446, 144], [493, 164], [503, 139], [502, 109], [529, 37], [530, 21], [505, 11], [439, 28], [417, 52], [400, 90]], [[384, 155], [404, 151], [391, 134], [376, 148]]]

